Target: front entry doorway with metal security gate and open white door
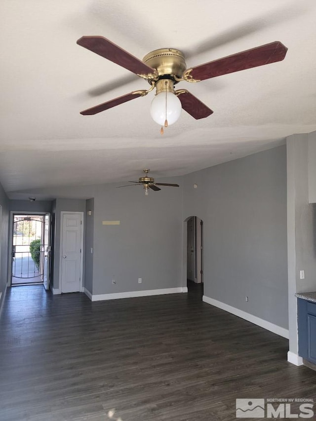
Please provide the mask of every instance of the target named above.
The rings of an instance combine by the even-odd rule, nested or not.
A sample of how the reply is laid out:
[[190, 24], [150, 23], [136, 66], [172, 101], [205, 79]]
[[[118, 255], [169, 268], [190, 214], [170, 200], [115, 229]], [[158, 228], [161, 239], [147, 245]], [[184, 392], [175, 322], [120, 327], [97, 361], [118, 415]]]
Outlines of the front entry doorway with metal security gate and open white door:
[[50, 214], [13, 214], [11, 286], [49, 285]]

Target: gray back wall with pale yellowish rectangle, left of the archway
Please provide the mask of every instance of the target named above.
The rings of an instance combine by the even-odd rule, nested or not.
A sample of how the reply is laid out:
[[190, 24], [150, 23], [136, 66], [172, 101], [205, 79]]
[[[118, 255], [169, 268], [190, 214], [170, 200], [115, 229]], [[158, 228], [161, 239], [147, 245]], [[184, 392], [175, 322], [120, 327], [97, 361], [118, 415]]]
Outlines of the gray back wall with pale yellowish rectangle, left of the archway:
[[[182, 186], [180, 177], [171, 182]], [[141, 186], [116, 186], [95, 189], [93, 294], [180, 287], [182, 188], [145, 196]], [[102, 225], [109, 220], [120, 225]]]

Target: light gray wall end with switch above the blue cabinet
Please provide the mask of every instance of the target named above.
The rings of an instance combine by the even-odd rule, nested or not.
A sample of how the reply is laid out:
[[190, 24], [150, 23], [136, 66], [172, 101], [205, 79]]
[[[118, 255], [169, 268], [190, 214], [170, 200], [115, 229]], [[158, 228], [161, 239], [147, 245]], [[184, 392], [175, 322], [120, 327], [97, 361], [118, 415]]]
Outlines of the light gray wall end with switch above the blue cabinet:
[[[286, 145], [289, 350], [297, 354], [294, 294], [316, 291], [316, 204], [309, 203], [309, 135], [289, 136]], [[302, 269], [304, 280], [300, 279]]]

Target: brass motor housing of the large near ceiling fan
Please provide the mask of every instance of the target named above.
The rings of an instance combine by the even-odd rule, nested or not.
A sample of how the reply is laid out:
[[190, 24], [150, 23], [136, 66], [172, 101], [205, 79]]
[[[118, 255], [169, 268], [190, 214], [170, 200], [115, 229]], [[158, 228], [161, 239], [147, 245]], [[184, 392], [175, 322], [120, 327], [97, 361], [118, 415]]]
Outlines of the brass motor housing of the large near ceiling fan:
[[165, 75], [181, 79], [187, 65], [184, 54], [174, 48], [159, 48], [143, 58], [143, 62], [157, 70], [158, 77]]

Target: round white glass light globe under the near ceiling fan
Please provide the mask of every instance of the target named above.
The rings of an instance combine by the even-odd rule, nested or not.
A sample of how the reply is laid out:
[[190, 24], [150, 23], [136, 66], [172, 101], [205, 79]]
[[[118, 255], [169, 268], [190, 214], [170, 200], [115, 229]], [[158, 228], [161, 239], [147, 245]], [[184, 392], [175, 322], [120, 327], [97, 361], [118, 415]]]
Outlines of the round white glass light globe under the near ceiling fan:
[[160, 126], [164, 125], [165, 120], [168, 121], [168, 126], [175, 123], [181, 115], [181, 101], [172, 92], [167, 92], [167, 113], [166, 113], [166, 93], [160, 92], [155, 95], [150, 106], [150, 114], [156, 123]]

